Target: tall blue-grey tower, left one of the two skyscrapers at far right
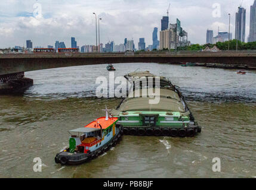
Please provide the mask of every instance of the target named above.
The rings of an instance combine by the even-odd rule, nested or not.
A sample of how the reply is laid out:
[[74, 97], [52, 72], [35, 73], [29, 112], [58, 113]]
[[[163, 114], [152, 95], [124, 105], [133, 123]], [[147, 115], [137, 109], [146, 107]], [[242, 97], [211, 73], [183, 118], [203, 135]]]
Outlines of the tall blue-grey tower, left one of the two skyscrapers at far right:
[[246, 9], [238, 7], [236, 12], [236, 34], [235, 39], [245, 42], [245, 21], [246, 21]]

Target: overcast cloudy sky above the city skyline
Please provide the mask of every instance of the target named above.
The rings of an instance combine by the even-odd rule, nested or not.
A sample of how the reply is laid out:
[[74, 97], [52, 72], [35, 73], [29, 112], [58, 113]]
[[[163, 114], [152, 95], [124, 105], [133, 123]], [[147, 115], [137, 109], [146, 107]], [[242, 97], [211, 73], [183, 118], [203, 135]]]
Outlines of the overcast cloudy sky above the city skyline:
[[[26, 46], [30, 39], [33, 46], [54, 45], [55, 40], [65, 42], [70, 47], [70, 37], [76, 37], [78, 46], [95, 45], [95, 15], [102, 18], [100, 25], [101, 43], [111, 40], [115, 44], [124, 43], [124, 38], [144, 37], [146, 46], [152, 44], [154, 27], [161, 30], [161, 18], [171, 2], [169, 19], [188, 32], [191, 43], [203, 44], [206, 30], [229, 29], [235, 36], [235, 13], [242, 0], [8, 0], [0, 5], [0, 48]], [[246, 8], [246, 39], [249, 34], [250, 5], [254, 0], [243, 0]], [[41, 5], [42, 17], [37, 15]], [[214, 4], [220, 4], [220, 15]], [[35, 14], [33, 14], [35, 12]], [[212, 16], [214, 12], [215, 16]], [[35, 17], [36, 15], [36, 17]], [[158, 32], [159, 38], [159, 32]]]

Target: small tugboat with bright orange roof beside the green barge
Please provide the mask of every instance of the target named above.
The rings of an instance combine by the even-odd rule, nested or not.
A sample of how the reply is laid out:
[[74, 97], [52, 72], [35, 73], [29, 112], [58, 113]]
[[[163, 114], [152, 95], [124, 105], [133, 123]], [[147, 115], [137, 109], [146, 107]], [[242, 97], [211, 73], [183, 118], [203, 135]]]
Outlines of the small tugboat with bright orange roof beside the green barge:
[[[118, 143], [122, 134], [122, 126], [116, 125], [118, 118], [106, 117], [95, 119], [83, 128], [69, 131], [69, 148], [55, 156], [55, 163], [61, 165], [81, 164], [98, 157]], [[73, 135], [73, 134], [78, 135]]]

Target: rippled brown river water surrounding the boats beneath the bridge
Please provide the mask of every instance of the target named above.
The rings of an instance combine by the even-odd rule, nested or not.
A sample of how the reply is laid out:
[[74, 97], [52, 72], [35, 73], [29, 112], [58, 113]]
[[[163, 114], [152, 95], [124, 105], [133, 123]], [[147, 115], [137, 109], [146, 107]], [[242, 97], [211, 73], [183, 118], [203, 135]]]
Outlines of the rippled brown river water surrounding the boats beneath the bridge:
[[[122, 137], [97, 159], [55, 164], [67, 131], [104, 116], [120, 99], [97, 99], [95, 80], [107, 65], [26, 72], [24, 95], [0, 96], [0, 178], [256, 178], [256, 72], [168, 64], [115, 64], [115, 77], [150, 71], [178, 85], [202, 126], [193, 138]], [[33, 171], [40, 157], [42, 172]], [[212, 171], [212, 159], [221, 172]]]

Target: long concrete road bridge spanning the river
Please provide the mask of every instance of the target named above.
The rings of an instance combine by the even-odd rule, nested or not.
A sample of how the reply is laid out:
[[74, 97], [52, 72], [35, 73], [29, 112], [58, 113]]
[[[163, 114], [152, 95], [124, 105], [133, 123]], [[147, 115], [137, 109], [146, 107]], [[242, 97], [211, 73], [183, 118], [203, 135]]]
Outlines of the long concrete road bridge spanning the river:
[[256, 66], [256, 51], [0, 54], [0, 77], [17, 72], [66, 66], [131, 62], [199, 62]]

